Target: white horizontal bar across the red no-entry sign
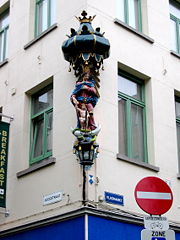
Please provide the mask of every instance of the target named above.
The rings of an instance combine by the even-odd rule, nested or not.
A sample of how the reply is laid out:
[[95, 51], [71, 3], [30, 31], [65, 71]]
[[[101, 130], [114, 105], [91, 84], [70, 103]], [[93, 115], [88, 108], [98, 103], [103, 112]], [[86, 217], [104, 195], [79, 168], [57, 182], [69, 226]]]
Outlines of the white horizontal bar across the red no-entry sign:
[[170, 193], [161, 193], [161, 192], [140, 192], [137, 191], [137, 198], [142, 199], [164, 199], [164, 200], [171, 200]]

